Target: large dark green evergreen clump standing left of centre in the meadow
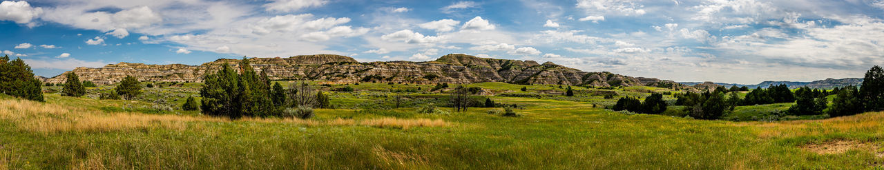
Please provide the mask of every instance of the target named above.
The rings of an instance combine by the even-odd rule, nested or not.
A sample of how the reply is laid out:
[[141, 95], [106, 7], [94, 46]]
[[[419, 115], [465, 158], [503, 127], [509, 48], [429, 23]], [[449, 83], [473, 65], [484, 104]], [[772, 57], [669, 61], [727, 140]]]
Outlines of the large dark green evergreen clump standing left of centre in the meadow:
[[232, 119], [242, 116], [309, 118], [314, 107], [331, 107], [327, 95], [304, 81], [293, 83], [288, 89], [279, 83], [271, 85], [266, 72], [259, 75], [246, 57], [237, 69], [239, 71], [225, 63], [221, 70], [204, 76], [200, 89], [203, 114]]

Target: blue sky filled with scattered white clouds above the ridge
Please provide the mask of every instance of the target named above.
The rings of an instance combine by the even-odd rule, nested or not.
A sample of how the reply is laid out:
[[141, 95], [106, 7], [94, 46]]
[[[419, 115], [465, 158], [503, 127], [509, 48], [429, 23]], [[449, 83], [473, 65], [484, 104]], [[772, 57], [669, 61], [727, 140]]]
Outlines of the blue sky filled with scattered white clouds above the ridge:
[[758, 84], [884, 64], [884, 0], [3, 1], [0, 37], [0, 52], [44, 77], [120, 62], [468, 54]]

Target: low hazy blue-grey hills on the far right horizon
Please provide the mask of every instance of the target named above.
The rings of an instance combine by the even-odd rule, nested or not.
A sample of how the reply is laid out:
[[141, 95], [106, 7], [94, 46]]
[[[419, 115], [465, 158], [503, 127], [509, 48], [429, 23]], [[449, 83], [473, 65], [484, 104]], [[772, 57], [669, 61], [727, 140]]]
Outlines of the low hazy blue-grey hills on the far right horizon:
[[[681, 83], [682, 85], [703, 84], [703, 82], [679, 82], [679, 83]], [[826, 78], [824, 80], [816, 80], [816, 81], [812, 81], [812, 82], [765, 81], [765, 82], [759, 83], [758, 85], [741, 85], [741, 84], [728, 84], [728, 83], [714, 83], [714, 84], [715, 85], [724, 85], [727, 87], [732, 86], [732, 85], [747, 86], [749, 88], [756, 88], [759, 86], [761, 88], [766, 88], [771, 85], [786, 85], [786, 86], [789, 86], [789, 88], [793, 88], [793, 89], [799, 88], [799, 87], [804, 87], [804, 86], [811, 87], [811, 88], [817, 88], [817, 89], [833, 89], [834, 87], [843, 87], [843, 86], [848, 86], [848, 85], [860, 85], [862, 83], [863, 83], [863, 78], [841, 78], [841, 79]]]

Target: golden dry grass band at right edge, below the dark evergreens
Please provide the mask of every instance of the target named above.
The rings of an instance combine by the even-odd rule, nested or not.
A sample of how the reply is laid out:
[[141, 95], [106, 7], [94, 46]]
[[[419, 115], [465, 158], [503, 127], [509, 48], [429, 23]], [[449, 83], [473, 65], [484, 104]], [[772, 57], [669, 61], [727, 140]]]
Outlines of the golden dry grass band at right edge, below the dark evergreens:
[[758, 137], [803, 137], [857, 131], [875, 132], [884, 129], [884, 112], [835, 117], [825, 120], [788, 122], [744, 122], [738, 125], [755, 127]]

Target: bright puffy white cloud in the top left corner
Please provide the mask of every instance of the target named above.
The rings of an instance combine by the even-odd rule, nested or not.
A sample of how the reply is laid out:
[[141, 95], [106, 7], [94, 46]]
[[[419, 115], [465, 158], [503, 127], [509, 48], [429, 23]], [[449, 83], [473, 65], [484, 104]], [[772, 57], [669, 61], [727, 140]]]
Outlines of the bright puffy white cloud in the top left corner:
[[11, 20], [19, 24], [30, 24], [31, 20], [38, 18], [43, 12], [42, 8], [32, 8], [25, 1], [4, 1], [0, 3], [0, 20]]

